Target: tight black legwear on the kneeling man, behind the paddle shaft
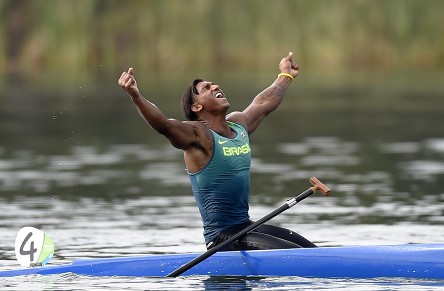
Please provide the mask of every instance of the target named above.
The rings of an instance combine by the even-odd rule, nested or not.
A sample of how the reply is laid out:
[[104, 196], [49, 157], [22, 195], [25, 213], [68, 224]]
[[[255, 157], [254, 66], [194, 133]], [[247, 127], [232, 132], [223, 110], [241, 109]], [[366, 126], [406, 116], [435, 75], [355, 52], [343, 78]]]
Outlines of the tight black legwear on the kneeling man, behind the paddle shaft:
[[[242, 229], [251, 225], [253, 221], [229, 227], [222, 230], [211, 242], [207, 244], [207, 250], [224, 242]], [[296, 232], [269, 224], [262, 224], [255, 230], [247, 233], [234, 241], [221, 251], [248, 251], [248, 250], [273, 250], [294, 248], [316, 248], [317, 246], [297, 234]]]

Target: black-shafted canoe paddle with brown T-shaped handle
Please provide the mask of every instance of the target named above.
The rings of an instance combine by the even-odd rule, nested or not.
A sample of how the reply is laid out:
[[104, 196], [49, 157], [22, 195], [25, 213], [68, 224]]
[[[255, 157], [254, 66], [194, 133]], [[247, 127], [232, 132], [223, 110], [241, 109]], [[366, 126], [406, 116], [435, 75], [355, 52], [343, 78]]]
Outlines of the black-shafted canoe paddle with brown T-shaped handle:
[[321, 181], [319, 181], [315, 177], [311, 177], [310, 178], [310, 182], [313, 184], [313, 187], [308, 188], [304, 192], [302, 192], [299, 195], [297, 195], [295, 198], [292, 198], [292, 199], [288, 200], [287, 203], [285, 203], [281, 207], [279, 207], [279, 208], [275, 209], [274, 211], [270, 212], [269, 214], [267, 214], [263, 218], [260, 218], [258, 221], [254, 222], [253, 224], [251, 224], [250, 226], [248, 226], [244, 230], [242, 230], [242, 231], [238, 232], [237, 234], [233, 235], [232, 237], [230, 237], [226, 241], [220, 243], [219, 245], [217, 245], [214, 248], [208, 250], [207, 252], [203, 253], [202, 255], [199, 255], [199, 256], [195, 257], [194, 259], [190, 260], [188, 263], [186, 263], [182, 267], [180, 267], [177, 270], [175, 270], [175, 271], [171, 272], [170, 274], [168, 274], [167, 277], [175, 278], [175, 277], [185, 273], [187, 270], [191, 269], [192, 267], [194, 267], [195, 265], [197, 265], [201, 261], [203, 261], [203, 260], [209, 258], [210, 256], [216, 254], [218, 251], [222, 250], [223, 248], [225, 248], [226, 246], [228, 246], [232, 242], [238, 240], [242, 236], [246, 235], [250, 231], [255, 230], [256, 228], [258, 228], [260, 225], [262, 225], [263, 223], [267, 222], [271, 218], [274, 218], [278, 214], [280, 214], [280, 213], [286, 211], [287, 209], [295, 206], [297, 203], [299, 203], [300, 201], [304, 200], [305, 198], [307, 198], [311, 194], [315, 193], [316, 191], [319, 190], [322, 193], [324, 193], [324, 195], [326, 195], [326, 196], [330, 194], [330, 189], [327, 188]]

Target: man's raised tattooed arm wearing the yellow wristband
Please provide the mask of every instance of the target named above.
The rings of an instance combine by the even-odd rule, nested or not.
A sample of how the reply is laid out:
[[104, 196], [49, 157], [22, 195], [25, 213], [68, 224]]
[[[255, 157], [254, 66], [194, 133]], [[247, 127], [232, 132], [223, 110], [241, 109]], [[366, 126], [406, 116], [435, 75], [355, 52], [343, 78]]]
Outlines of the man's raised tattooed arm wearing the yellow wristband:
[[281, 73], [278, 78], [255, 97], [253, 102], [242, 111], [245, 116], [248, 133], [253, 133], [262, 119], [275, 110], [284, 99], [285, 91], [297, 76], [299, 66], [292, 60], [293, 53], [282, 59], [279, 63]]

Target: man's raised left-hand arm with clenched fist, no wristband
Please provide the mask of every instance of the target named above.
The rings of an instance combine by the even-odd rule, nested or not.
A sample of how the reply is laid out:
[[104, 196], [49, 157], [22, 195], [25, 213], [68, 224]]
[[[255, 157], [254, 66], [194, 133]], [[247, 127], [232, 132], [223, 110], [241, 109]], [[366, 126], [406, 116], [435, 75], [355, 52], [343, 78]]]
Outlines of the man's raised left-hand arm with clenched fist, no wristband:
[[152, 129], [164, 135], [171, 145], [185, 149], [196, 141], [197, 136], [193, 127], [177, 119], [167, 118], [157, 106], [140, 94], [134, 78], [133, 68], [129, 68], [128, 72], [122, 73], [119, 78], [119, 85], [131, 96], [142, 118], [147, 121]]

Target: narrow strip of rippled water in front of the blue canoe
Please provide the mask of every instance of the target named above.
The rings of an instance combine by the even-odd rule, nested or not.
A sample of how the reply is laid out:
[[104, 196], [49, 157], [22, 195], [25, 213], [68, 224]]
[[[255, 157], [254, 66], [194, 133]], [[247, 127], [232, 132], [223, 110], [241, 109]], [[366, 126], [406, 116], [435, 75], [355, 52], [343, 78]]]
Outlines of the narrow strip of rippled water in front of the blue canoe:
[[[399, 279], [379, 280], [327, 280], [299, 277], [236, 278], [189, 276], [181, 279], [107, 277], [90, 278], [73, 274], [47, 277], [21, 278], [17, 284], [5, 279], [8, 290], [390, 290], [417, 291], [442, 290], [442, 282], [407, 281]], [[9, 282], [8, 282], [9, 281]], [[17, 286], [19, 285], [19, 286]], [[19, 288], [17, 288], [19, 287]]]

